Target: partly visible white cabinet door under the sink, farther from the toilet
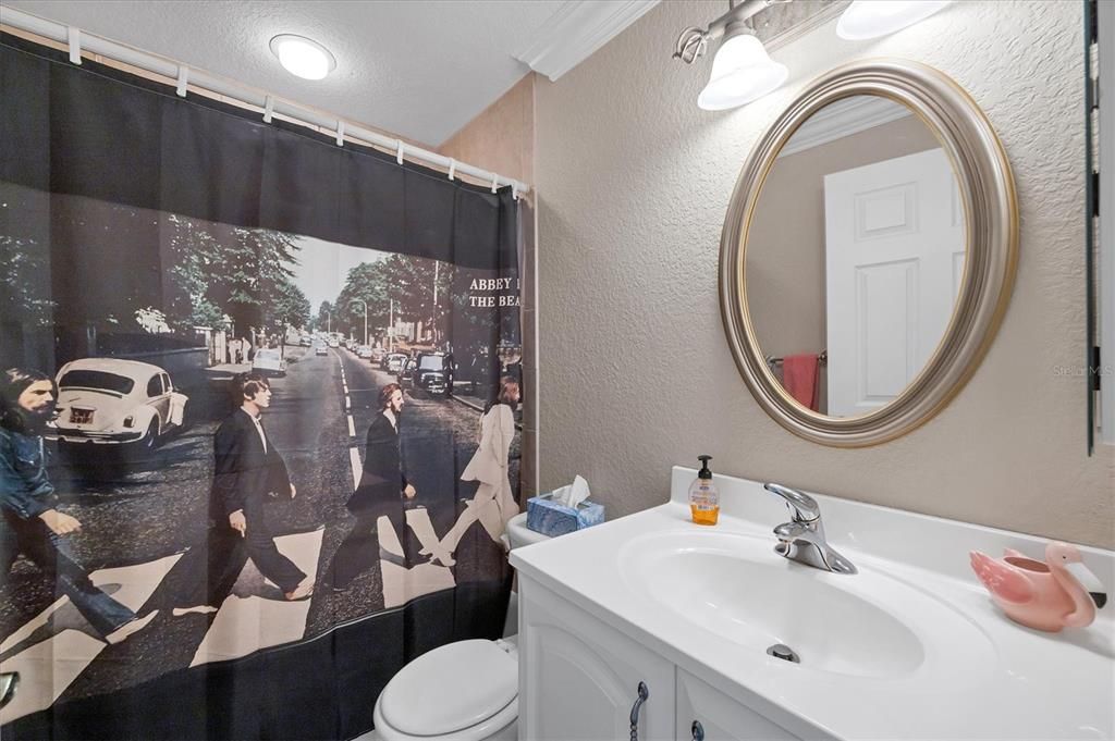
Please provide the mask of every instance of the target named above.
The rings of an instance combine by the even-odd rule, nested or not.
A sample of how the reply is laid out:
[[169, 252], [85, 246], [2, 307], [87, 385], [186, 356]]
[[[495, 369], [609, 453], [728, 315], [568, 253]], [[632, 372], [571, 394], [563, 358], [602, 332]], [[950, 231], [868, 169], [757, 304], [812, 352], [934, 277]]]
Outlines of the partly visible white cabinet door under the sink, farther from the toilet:
[[678, 741], [797, 741], [789, 731], [681, 669], [677, 723]]

